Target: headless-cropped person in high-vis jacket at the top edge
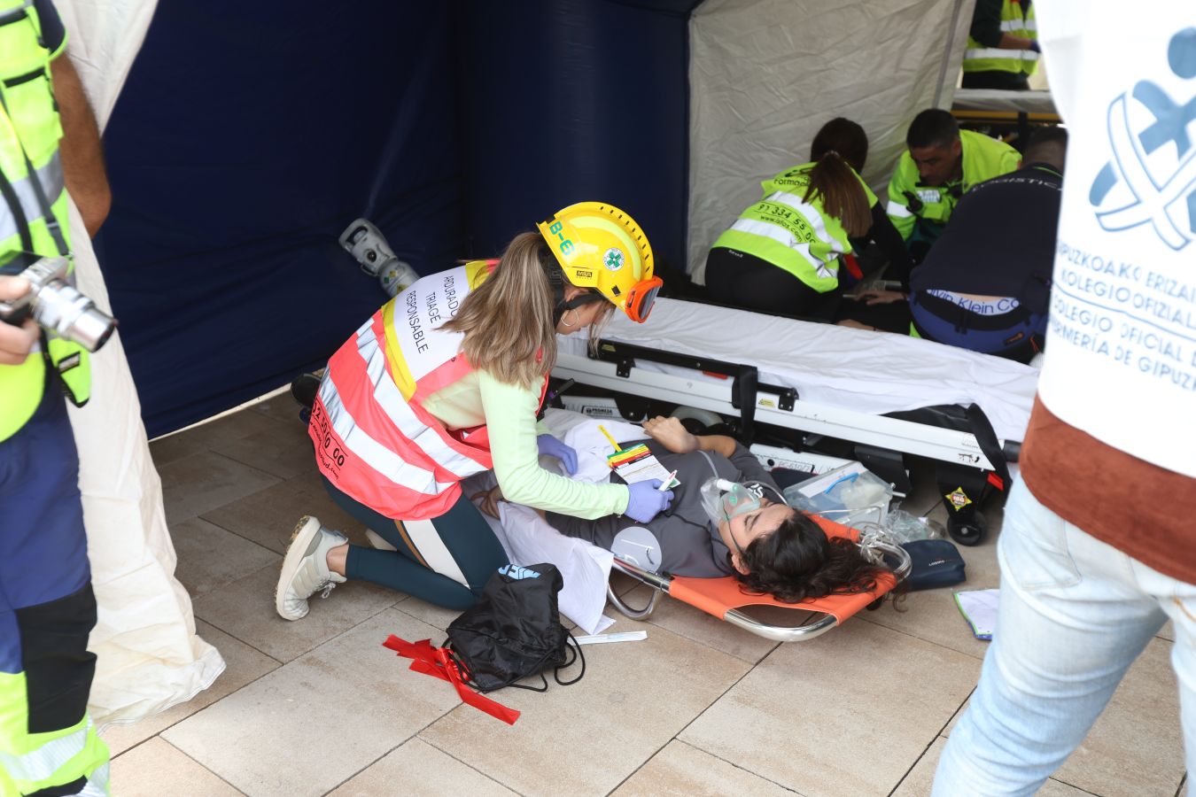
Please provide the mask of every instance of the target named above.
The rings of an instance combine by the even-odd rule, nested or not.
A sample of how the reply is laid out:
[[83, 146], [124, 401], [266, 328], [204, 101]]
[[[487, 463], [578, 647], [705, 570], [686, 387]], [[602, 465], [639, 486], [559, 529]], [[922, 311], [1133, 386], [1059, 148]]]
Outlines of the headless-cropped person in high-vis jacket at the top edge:
[[976, 0], [964, 50], [964, 88], [1030, 88], [1042, 53], [1031, 2]]

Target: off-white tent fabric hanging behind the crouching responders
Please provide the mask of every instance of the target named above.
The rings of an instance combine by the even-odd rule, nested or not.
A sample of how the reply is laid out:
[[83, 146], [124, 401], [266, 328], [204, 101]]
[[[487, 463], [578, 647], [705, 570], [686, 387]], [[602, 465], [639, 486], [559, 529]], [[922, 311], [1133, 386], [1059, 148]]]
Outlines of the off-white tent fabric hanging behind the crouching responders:
[[825, 122], [859, 122], [864, 179], [889, 184], [914, 116], [951, 106], [975, 0], [706, 0], [690, 20], [688, 266], [805, 163]]

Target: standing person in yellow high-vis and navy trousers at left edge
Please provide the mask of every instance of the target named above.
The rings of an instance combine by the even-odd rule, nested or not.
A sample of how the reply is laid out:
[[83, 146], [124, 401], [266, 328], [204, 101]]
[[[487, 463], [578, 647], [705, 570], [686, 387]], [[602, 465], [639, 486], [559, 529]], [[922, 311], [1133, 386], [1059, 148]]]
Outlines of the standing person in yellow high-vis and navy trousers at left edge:
[[[80, 189], [89, 232], [108, 211], [94, 118], [59, 57], [65, 47], [49, 0], [0, 0], [0, 265], [10, 271], [69, 253], [66, 189]], [[0, 277], [0, 300], [28, 289]], [[87, 717], [96, 599], [63, 399], [86, 403], [87, 352], [32, 320], [0, 327], [0, 793], [96, 797], [109, 771]]]

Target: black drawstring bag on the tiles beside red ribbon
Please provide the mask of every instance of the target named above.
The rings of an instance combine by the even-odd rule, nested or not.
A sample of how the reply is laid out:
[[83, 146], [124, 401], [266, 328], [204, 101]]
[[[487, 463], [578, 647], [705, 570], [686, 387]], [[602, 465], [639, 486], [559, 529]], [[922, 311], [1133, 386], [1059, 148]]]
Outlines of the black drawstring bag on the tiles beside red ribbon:
[[[445, 648], [453, 652], [462, 678], [478, 692], [505, 686], [545, 692], [544, 670], [554, 668], [556, 682], [576, 683], [586, 674], [581, 648], [561, 625], [556, 594], [565, 581], [551, 564], [526, 568], [508, 564], [486, 583], [482, 597], [448, 626]], [[573, 642], [573, 656], [568, 656]], [[581, 661], [581, 673], [562, 681], [560, 670]], [[515, 681], [539, 675], [544, 685], [526, 686]]]

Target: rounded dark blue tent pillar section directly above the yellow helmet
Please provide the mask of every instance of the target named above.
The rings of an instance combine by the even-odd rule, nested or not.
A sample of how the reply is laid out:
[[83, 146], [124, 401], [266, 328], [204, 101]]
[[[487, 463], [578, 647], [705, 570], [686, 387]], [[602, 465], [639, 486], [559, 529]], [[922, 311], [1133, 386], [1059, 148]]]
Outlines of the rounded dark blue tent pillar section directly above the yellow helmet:
[[684, 268], [696, 5], [470, 4], [465, 207], [478, 253], [557, 208], [600, 200], [641, 225], [659, 260]]

